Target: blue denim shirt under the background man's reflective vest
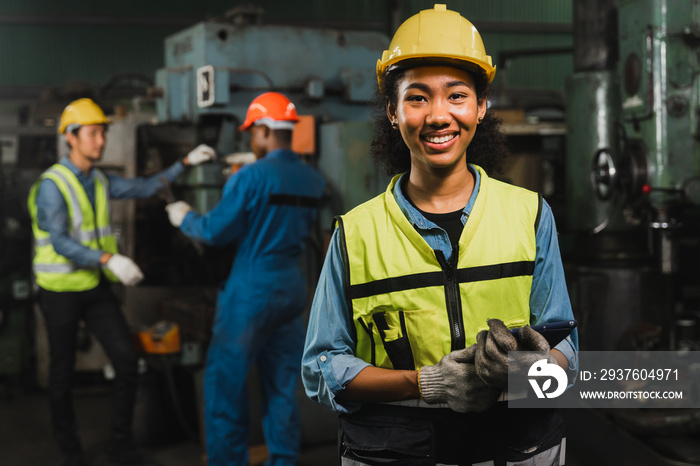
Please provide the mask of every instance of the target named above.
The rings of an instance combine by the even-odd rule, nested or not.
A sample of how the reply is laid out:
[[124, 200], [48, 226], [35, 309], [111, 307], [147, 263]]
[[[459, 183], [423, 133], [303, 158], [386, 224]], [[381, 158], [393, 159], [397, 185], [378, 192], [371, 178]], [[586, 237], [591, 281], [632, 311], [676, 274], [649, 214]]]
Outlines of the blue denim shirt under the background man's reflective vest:
[[[85, 189], [90, 203], [95, 206], [95, 174], [84, 173], [68, 157], [59, 162], [70, 169]], [[131, 199], [153, 196], [160, 189], [160, 177], [164, 176], [168, 181], [173, 181], [183, 171], [182, 162], [176, 162], [166, 170], [148, 178], [122, 178], [117, 175], [105, 174], [109, 180], [109, 196], [112, 199]], [[90, 249], [68, 234], [68, 206], [63, 194], [53, 180], [45, 179], [39, 186], [36, 196], [37, 223], [39, 228], [51, 235], [51, 244], [56, 252], [67, 257], [77, 265], [86, 268], [95, 268], [100, 265], [102, 251]]]

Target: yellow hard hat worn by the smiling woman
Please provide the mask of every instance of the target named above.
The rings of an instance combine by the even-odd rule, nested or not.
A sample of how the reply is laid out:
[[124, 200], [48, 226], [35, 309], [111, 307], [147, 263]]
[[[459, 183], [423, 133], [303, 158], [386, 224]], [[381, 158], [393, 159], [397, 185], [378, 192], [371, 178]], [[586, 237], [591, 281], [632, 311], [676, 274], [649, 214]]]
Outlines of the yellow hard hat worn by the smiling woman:
[[411, 16], [396, 30], [389, 50], [377, 60], [380, 89], [382, 77], [391, 66], [414, 59], [448, 60], [477, 67], [486, 73], [489, 83], [496, 75], [479, 31], [462, 15], [441, 4]]

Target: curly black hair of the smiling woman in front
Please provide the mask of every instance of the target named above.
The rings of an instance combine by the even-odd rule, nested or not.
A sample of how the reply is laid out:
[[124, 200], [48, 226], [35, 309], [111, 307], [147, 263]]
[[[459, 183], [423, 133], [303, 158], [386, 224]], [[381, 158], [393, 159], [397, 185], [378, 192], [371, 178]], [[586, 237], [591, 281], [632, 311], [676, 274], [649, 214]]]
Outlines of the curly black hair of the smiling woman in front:
[[[411, 168], [411, 153], [401, 133], [391, 127], [391, 122], [386, 115], [387, 104], [398, 103], [397, 85], [408, 69], [410, 68], [403, 67], [385, 73], [381, 89], [375, 91], [371, 101], [374, 137], [370, 145], [370, 154], [374, 162], [389, 176], [403, 173]], [[489, 92], [486, 75], [474, 70], [467, 71], [474, 78], [477, 99], [479, 101], [486, 99]], [[479, 165], [489, 175], [502, 173], [503, 162], [509, 154], [502, 125], [503, 121], [500, 118], [487, 111], [469, 144], [467, 162]]]

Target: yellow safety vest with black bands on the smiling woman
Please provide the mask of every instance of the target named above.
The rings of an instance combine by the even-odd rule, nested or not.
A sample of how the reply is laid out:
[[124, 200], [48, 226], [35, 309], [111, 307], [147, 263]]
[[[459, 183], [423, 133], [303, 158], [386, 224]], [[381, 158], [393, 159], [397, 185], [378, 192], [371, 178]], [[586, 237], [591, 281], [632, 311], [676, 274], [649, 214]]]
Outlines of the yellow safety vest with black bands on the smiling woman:
[[418, 369], [476, 342], [486, 320], [530, 323], [537, 193], [489, 178], [450, 262], [386, 192], [339, 218], [355, 354], [377, 367]]

